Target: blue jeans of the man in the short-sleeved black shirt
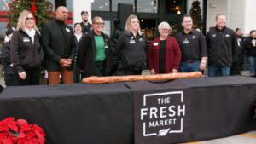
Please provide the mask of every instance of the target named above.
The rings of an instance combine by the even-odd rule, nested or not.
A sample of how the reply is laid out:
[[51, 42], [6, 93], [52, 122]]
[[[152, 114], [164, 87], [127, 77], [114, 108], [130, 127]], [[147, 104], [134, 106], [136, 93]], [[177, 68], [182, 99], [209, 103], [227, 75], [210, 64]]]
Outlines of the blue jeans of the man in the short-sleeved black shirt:
[[179, 66], [180, 72], [200, 72], [200, 60], [195, 60], [194, 62], [181, 62]]

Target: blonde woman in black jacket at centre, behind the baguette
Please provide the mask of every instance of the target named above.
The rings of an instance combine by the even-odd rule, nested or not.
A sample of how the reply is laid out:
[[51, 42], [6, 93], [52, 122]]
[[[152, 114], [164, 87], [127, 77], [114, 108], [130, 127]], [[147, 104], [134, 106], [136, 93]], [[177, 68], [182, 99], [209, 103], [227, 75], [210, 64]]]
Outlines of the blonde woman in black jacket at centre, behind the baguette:
[[116, 43], [119, 59], [117, 75], [141, 75], [146, 66], [147, 40], [136, 15], [126, 20], [125, 32]]

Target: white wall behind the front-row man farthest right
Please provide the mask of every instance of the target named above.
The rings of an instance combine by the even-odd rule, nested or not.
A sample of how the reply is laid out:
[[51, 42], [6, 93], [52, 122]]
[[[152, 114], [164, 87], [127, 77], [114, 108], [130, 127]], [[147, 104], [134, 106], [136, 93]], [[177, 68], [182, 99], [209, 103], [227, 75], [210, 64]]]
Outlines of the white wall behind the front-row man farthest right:
[[228, 27], [241, 28], [245, 36], [256, 29], [256, 0], [208, 0], [207, 30], [215, 26], [215, 16], [220, 13], [226, 15]]

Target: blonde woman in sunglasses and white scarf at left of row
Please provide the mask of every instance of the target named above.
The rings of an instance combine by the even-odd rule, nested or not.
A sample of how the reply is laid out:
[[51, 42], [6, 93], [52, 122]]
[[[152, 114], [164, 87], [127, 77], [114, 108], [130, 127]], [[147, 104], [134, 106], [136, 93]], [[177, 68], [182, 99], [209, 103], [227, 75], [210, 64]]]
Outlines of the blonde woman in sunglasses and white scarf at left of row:
[[10, 53], [16, 70], [18, 85], [38, 85], [42, 50], [40, 33], [30, 11], [20, 13], [16, 31], [10, 43]]

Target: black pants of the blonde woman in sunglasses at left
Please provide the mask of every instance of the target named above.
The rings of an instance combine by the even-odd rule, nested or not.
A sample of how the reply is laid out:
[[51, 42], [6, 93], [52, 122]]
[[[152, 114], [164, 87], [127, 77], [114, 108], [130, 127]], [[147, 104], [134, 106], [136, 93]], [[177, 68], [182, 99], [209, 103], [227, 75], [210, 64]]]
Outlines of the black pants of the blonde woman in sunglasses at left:
[[40, 83], [40, 67], [24, 68], [26, 78], [20, 79], [19, 74], [16, 74], [18, 85], [39, 85]]

